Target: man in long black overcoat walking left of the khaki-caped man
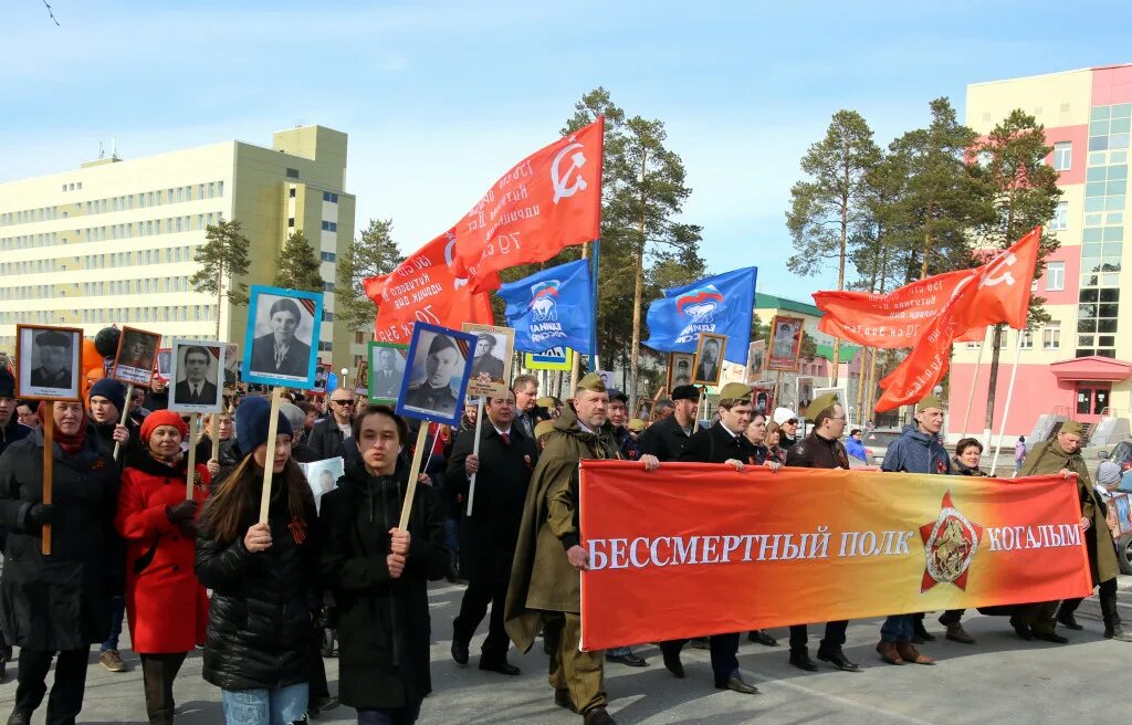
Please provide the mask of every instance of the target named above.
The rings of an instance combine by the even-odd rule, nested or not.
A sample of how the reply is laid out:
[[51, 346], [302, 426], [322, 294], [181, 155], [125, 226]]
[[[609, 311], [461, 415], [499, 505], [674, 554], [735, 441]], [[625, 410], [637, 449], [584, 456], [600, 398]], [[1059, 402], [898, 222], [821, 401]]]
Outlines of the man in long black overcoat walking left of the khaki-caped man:
[[507, 662], [507, 631], [503, 612], [511, 581], [511, 562], [523, 519], [523, 501], [538, 460], [534, 441], [515, 421], [515, 394], [506, 390], [489, 398], [483, 407], [487, 420], [480, 426], [480, 452], [472, 452], [475, 430], [456, 438], [445, 485], [466, 500], [469, 481], [477, 476], [472, 513], [463, 520], [463, 567], [469, 580], [460, 615], [452, 623], [452, 658], [468, 664], [468, 645], [491, 605], [488, 637], [480, 650], [480, 670], [517, 675], [518, 667]]

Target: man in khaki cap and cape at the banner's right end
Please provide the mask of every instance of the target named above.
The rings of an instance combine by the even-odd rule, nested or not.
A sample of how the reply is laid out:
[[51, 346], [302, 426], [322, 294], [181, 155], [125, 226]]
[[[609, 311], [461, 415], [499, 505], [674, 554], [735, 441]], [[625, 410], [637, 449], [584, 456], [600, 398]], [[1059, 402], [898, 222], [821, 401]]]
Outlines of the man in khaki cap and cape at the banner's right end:
[[[1081, 457], [1081, 445], [1084, 441], [1084, 429], [1077, 421], [1063, 423], [1054, 440], [1043, 441], [1030, 449], [1022, 463], [1020, 476], [1057, 475], [1064, 478], [1077, 476], [1077, 491], [1081, 500], [1081, 530], [1084, 532], [1084, 544], [1089, 552], [1089, 573], [1092, 586], [1099, 587], [1100, 618], [1105, 622], [1105, 637], [1118, 641], [1132, 641], [1132, 632], [1121, 624], [1121, 615], [1116, 607], [1116, 575], [1120, 567], [1116, 551], [1112, 545], [1108, 524], [1105, 519], [1106, 506], [1089, 481], [1089, 469]], [[1026, 637], [1026, 627], [1032, 638], [1050, 642], [1065, 644], [1067, 638], [1057, 635], [1054, 628], [1057, 623], [1066, 629], [1080, 630], [1074, 613], [1081, 599], [1065, 599], [1058, 609], [1057, 602], [1046, 602], [1024, 607], [1020, 614], [1011, 618], [1014, 630]]]

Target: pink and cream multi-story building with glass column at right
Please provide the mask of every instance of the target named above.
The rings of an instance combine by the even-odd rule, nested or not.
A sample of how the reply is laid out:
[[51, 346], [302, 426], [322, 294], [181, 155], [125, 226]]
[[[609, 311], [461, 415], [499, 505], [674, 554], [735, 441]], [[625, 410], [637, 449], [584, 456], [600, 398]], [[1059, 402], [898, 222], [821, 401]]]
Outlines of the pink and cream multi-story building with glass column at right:
[[[1045, 126], [1053, 147], [1046, 163], [1060, 172], [1063, 196], [1047, 225], [1061, 249], [1034, 284], [1034, 294], [1045, 297], [1053, 319], [1021, 336], [1010, 330], [1000, 351], [995, 433], [1002, 429], [1012, 365], [1015, 356], [1019, 360], [1005, 425], [1011, 443], [1020, 434], [1041, 437], [1058, 420], [1096, 425], [1107, 418], [1108, 425], [1097, 429], [1103, 431], [1132, 417], [1132, 300], [1126, 293], [1121, 304], [1121, 287], [1132, 282], [1123, 270], [1124, 243], [1132, 241], [1127, 196], [1132, 64], [967, 88], [967, 124], [979, 133], [990, 131], [1014, 109]], [[990, 344], [989, 336], [985, 344]], [[952, 439], [984, 431], [989, 360], [990, 351], [980, 351], [979, 343], [954, 348], [947, 426]], [[972, 379], [974, 403], [964, 414]]]

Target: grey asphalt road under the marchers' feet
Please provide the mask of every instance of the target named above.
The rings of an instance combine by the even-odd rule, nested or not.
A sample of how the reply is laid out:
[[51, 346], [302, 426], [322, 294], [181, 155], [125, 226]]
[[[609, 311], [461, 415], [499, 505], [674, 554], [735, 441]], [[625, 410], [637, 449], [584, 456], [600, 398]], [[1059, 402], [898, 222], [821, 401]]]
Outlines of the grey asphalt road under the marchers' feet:
[[[1132, 622], [1132, 578], [1122, 578], [1125, 620]], [[434, 693], [424, 701], [421, 723], [580, 725], [582, 718], [557, 708], [546, 681], [547, 658], [537, 645], [526, 655], [512, 651], [511, 661], [523, 674], [507, 677], [475, 667], [483, 627], [472, 642], [469, 666], [460, 667], [448, 648], [452, 618], [463, 588], [441, 584], [430, 590], [432, 611]], [[1070, 645], [1027, 642], [1014, 636], [1004, 618], [971, 614], [964, 623], [978, 642], [959, 645], [942, 639], [923, 647], [936, 656], [936, 666], [882, 663], [874, 646], [878, 620], [850, 623], [848, 656], [864, 665], [859, 674], [825, 668], [804, 673], [787, 663], [784, 646], [761, 647], [743, 640], [739, 663], [744, 676], [762, 691], [740, 696], [712, 688], [706, 650], [685, 649], [687, 679], [676, 680], [663, 667], [654, 646], [636, 649], [649, 666], [632, 668], [608, 664], [606, 685], [611, 698], [609, 711], [619, 724], [704, 723], [765, 725], [830, 723], [846, 725], [900, 725], [926, 723], [955, 725], [971, 723], [1031, 724], [1078, 722], [1097, 725], [1127, 722], [1127, 684], [1124, 680], [1132, 658], [1132, 644], [1101, 638], [1095, 599], [1079, 613], [1082, 632], [1067, 632]], [[929, 630], [942, 635], [934, 619]], [[812, 628], [812, 637], [821, 628]], [[786, 639], [786, 631], [772, 632]], [[816, 639], [812, 641], [812, 651]], [[137, 656], [122, 651], [131, 670], [114, 674], [91, 656], [86, 705], [82, 723], [145, 723], [142, 673]], [[0, 713], [11, 709], [16, 683], [15, 663], [0, 684]], [[336, 691], [337, 661], [327, 661], [331, 691]], [[220, 691], [200, 677], [200, 654], [194, 653], [174, 688], [177, 722], [182, 725], [218, 725], [223, 722]], [[34, 723], [44, 722], [44, 706]], [[323, 714], [318, 722], [354, 722], [353, 710], [340, 707]]]

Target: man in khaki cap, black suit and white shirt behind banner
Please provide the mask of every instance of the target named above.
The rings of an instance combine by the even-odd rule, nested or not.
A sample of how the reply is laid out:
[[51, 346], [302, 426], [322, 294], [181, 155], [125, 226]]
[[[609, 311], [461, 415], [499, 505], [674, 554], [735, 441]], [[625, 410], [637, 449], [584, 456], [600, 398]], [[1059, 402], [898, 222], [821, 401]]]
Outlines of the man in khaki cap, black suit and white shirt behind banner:
[[[710, 429], [700, 429], [684, 447], [678, 460], [727, 464], [736, 471], [752, 463], [754, 446], [743, 434], [751, 423], [751, 386], [729, 382], [719, 392], [719, 421]], [[659, 423], [658, 423], [659, 425]], [[676, 639], [660, 642], [664, 666], [677, 677], [684, 676], [680, 648], [686, 640]], [[739, 635], [712, 635], [709, 638], [711, 668], [718, 690], [731, 690], [741, 694], [756, 694], [758, 688], [743, 681], [739, 674]]]

